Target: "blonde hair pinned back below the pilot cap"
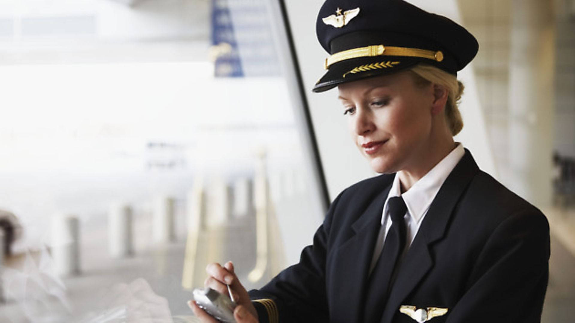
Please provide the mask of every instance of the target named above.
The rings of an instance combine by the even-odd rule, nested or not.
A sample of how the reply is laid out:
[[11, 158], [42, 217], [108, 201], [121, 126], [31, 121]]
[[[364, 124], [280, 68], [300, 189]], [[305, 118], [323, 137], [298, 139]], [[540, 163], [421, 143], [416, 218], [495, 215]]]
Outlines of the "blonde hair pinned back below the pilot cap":
[[459, 113], [459, 100], [463, 94], [463, 83], [457, 77], [437, 67], [419, 64], [411, 69], [416, 76], [416, 84], [427, 85], [430, 83], [439, 84], [447, 89], [447, 102], [445, 104], [445, 118], [451, 134], [455, 136], [463, 128], [463, 119]]

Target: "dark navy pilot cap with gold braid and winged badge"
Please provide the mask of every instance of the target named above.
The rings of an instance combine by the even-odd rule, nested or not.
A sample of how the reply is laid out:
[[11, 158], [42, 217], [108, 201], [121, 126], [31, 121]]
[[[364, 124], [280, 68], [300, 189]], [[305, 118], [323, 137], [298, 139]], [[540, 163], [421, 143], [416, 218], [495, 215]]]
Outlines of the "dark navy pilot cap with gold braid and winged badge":
[[316, 31], [329, 56], [314, 92], [419, 63], [457, 75], [478, 49], [461, 25], [403, 0], [327, 0]]

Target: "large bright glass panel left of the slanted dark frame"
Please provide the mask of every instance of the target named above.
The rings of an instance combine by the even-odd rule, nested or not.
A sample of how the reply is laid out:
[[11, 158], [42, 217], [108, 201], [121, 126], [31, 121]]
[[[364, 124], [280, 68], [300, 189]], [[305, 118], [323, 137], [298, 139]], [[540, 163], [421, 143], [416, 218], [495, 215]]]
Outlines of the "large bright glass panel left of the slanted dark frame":
[[297, 262], [323, 210], [270, 10], [0, 1], [0, 321], [187, 321], [206, 264]]

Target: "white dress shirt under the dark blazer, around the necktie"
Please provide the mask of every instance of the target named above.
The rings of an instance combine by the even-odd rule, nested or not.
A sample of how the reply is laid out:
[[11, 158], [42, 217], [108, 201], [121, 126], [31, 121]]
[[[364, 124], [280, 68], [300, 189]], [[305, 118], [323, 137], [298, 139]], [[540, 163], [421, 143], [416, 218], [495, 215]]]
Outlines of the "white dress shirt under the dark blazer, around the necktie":
[[381, 216], [381, 229], [379, 229], [379, 235], [377, 237], [377, 244], [375, 244], [373, 257], [371, 258], [371, 266], [369, 267], [369, 272], [373, 270], [382, 249], [384, 248], [385, 236], [388, 234], [389, 228], [392, 226], [392, 221], [390, 220], [388, 211], [388, 202], [392, 197], [403, 197], [405, 205], [407, 206], [407, 212], [405, 213], [405, 228], [407, 229], [407, 237], [405, 239], [405, 250], [402, 254], [409, 249], [417, 230], [427, 210], [430, 208], [431, 202], [433, 202], [435, 195], [439, 192], [440, 187], [445, 182], [447, 176], [453, 171], [455, 165], [459, 163], [459, 160], [465, 155], [465, 149], [461, 143], [457, 143], [457, 147], [453, 149], [447, 156], [443, 157], [438, 164], [431, 168], [422, 178], [417, 180], [413, 186], [407, 190], [405, 193], [401, 194], [401, 183], [399, 176], [395, 176], [393, 179], [393, 184], [389, 190], [388, 197], [385, 199], [384, 210]]

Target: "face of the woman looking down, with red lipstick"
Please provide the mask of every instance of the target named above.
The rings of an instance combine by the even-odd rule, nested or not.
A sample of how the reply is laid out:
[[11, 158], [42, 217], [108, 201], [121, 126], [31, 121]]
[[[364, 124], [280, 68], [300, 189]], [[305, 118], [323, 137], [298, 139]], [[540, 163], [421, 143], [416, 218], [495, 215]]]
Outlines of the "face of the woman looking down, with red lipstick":
[[379, 173], [417, 167], [432, 144], [431, 84], [415, 83], [412, 72], [343, 83], [339, 98], [359, 151]]

